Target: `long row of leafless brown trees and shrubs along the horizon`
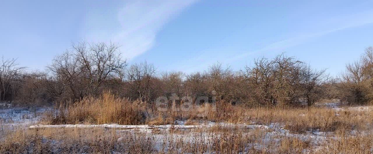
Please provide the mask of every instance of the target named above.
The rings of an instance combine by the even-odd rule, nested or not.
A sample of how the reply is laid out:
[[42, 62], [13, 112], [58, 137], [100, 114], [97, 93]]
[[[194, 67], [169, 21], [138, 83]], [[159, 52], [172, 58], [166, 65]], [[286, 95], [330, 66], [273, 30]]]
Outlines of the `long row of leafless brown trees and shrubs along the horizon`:
[[311, 106], [323, 99], [366, 104], [373, 98], [372, 47], [337, 78], [285, 54], [255, 59], [240, 71], [215, 63], [203, 72], [160, 72], [147, 62], [129, 65], [114, 43], [72, 44], [44, 71], [27, 72], [16, 59], [3, 58], [0, 65], [0, 101], [15, 105], [51, 105], [104, 91], [147, 103], [177, 95], [248, 106]]

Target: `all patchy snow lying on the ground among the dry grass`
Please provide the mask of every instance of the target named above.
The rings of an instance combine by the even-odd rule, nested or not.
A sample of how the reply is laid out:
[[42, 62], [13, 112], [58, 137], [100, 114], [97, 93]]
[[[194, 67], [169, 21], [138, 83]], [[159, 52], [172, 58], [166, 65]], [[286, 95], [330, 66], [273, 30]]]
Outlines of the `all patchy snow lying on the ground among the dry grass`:
[[[372, 111], [373, 107], [339, 107], [338, 102], [317, 104], [318, 106], [324, 106], [333, 108], [336, 111], [340, 110], [356, 110], [356, 111]], [[303, 134], [295, 134], [289, 130], [284, 129], [285, 125], [279, 123], [272, 123], [270, 125], [258, 125], [255, 122], [251, 124], [230, 124], [230, 123], [216, 123], [211, 121], [199, 122], [198, 125], [185, 125], [185, 121], [175, 121], [175, 125], [118, 125], [118, 124], [103, 124], [103, 125], [40, 125], [37, 124], [40, 121], [41, 116], [44, 112], [48, 111], [47, 108], [3, 108], [0, 109], [0, 126], [1, 129], [13, 127], [21, 127], [25, 129], [35, 128], [49, 128], [49, 129], [62, 129], [62, 128], [104, 128], [104, 129], [115, 129], [116, 133], [119, 134], [117, 141], [126, 140], [128, 136], [136, 134], [142, 134], [144, 138], [151, 139], [153, 141], [154, 148], [160, 150], [164, 147], [164, 142], [167, 141], [169, 144], [170, 140], [177, 140], [186, 143], [193, 142], [204, 142], [209, 144], [214, 138], [219, 137], [220, 134], [216, 134], [209, 130], [214, 127], [243, 130], [241, 135], [243, 137], [252, 137], [260, 133], [260, 137], [255, 143], [245, 145], [245, 148], [255, 148], [257, 150], [266, 148], [269, 144], [279, 144], [281, 138], [290, 137], [298, 138], [301, 141], [309, 142], [313, 144], [314, 149], [304, 150], [303, 153], [314, 153], [317, 151], [325, 141], [327, 137], [333, 136], [330, 132], [321, 132], [319, 130], [308, 131]], [[300, 115], [304, 116], [304, 115]], [[175, 133], [177, 132], [177, 133]], [[353, 134], [353, 133], [352, 133]], [[323, 143], [323, 144], [322, 144]], [[167, 146], [166, 146], [167, 147]], [[373, 152], [373, 151], [372, 151]]]

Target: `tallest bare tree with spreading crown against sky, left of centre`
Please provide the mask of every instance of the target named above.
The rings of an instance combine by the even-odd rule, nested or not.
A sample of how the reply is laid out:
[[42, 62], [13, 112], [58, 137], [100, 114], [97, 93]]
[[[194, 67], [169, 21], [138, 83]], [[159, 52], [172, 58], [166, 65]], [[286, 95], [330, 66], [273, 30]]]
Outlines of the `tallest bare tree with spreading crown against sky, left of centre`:
[[88, 80], [84, 87], [90, 94], [97, 95], [109, 79], [122, 76], [127, 63], [126, 60], [122, 60], [118, 48], [119, 46], [113, 43], [109, 45], [91, 43], [89, 47], [86, 42], [73, 44], [73, 52], [77, 57], [79, 67], [85, 79]]

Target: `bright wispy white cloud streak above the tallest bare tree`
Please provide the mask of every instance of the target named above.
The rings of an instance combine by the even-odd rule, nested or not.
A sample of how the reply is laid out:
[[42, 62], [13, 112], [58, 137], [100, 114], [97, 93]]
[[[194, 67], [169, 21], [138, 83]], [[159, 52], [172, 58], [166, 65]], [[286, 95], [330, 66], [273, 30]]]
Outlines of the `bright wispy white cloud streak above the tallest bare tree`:
[[121, 51], [134, 58], [153, 47], [164, 24], [197, 0], [127, 1], [119, 10], [121, 30], [110, 38], [122, 45]]

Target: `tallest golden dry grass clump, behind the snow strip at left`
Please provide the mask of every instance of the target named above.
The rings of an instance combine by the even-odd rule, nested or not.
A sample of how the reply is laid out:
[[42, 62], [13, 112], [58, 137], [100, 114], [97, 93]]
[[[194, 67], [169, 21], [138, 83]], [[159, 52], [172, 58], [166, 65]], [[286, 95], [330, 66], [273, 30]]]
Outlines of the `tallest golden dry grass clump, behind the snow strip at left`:
[[98, 98], [85, 97], [77, 102], [60, 105], [52, 124], [122, 124], [136, 125], [145, 122], [145, 105], [104, 93]]

